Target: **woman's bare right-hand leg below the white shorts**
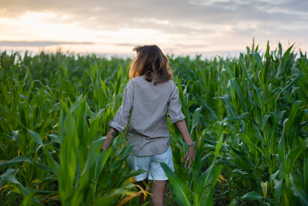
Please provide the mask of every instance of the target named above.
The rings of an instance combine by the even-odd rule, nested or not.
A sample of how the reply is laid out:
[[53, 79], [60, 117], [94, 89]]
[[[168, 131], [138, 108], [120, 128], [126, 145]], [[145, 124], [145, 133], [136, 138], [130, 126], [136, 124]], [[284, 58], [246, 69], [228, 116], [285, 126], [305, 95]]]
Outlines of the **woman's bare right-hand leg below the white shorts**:
[[152, 181], [152, 205], [153, 206], [164, 206], [165, 205], [165, 192], [168, 180], [155, 180]]

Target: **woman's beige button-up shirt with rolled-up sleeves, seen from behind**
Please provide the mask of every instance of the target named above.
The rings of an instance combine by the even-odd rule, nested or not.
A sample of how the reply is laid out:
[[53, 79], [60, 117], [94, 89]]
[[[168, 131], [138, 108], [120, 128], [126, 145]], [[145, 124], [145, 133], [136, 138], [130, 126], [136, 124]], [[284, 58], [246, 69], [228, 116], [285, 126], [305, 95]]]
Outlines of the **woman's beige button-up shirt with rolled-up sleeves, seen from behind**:
[[170, 146], [167, 111], [172, 123], [184, 120], [179, 91], [172, 80], [154, 85], [135, 77], [124, 89], [124, 99], [109, 126], [123, 132], [127, 143], [136, 142], [132, 152], [137, 156], [158, 155]]

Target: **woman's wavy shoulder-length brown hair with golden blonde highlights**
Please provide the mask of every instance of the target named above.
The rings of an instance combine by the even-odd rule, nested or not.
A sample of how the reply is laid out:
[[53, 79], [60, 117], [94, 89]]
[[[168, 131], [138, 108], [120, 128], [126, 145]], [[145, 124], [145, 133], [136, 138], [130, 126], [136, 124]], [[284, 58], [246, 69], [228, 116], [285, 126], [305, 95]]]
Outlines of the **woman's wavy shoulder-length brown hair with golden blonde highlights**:
[[137, 52], [137, 56], [131, 61], [129, 79], [144, 75], [148, 82], [154, 79], [154, 85], [172, 80], [168, 57], [158, 46], [136, 46], [133, 51]]

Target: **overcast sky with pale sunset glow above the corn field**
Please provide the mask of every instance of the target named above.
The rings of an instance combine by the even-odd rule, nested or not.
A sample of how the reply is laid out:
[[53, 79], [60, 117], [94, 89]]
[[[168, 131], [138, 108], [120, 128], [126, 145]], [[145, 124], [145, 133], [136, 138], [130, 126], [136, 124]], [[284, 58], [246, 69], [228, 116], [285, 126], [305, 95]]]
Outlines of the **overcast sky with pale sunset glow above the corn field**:
[[308, 50], [307, 0], [0, 0], [0, 51], [239, 54], [255, 44]]

